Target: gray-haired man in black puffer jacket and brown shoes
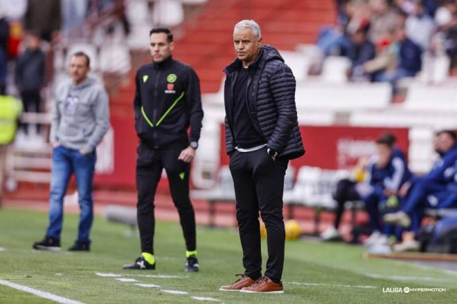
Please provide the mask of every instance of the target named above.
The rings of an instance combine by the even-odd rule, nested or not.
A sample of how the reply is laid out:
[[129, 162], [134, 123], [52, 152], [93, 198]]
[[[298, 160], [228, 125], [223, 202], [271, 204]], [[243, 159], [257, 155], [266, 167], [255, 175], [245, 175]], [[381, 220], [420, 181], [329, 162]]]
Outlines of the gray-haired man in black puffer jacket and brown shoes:
[[[236, 196], [244, 274], [220, 290], [284, 292], [284, 175], [305, 153], [295, 105], [295, 78], [273, 46], [262, 45], [260, 26], [242, 20], [233, 30], [236, 59], [224, 68], [226, 153]], [[260, 225], [267, 228], [268, 260], [262, 276]]]

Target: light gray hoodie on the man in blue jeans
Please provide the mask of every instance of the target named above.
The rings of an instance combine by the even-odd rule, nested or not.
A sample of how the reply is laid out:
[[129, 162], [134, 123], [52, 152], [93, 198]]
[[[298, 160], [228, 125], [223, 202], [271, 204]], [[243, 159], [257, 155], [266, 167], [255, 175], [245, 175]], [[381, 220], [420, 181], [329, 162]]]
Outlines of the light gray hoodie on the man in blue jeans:
[[93, 151], [108, 129], [108, 95], [96, 79], [87, 77], [77, 85], [69, 79], [57, 88], [51, 142]]

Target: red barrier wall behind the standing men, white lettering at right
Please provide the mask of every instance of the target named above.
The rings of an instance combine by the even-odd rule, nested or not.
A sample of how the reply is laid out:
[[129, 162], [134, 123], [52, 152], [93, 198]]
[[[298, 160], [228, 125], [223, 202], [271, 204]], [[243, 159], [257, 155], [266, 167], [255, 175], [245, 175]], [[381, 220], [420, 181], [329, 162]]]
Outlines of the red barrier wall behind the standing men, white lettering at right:
[[[132, 115], [133, 116], [133, 115]], [[109, 173], [97, 173], [95, 182], [98, 186], [135, 187], [136, 146], [138, 137], [134, 130], [134, 118], [129, 115], [111, 116], [114, 130], [113, 149], [114, 166]], [[408, 129], [372, 128], [352, 126], [301, 126], [306, 154], [292, 161], [298, 168], [303, 165], [324, 169], [352, 167], [360, 156], [375, 153], [374, 141], [383, 132], [390, 131], [397, 136], [397, 145], [407, 153], [409, 140]], [[228, 164], [225, 154], [224, 125], [221, 128], [222, 165]], [[159, 188], [168, 188], [166, 180], [161, 180]]]

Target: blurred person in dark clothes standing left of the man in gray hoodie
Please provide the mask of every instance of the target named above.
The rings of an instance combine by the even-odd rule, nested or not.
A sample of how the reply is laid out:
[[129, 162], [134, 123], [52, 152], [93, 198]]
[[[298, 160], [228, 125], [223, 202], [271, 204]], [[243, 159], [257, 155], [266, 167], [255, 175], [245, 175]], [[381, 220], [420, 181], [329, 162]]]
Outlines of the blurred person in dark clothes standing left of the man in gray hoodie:
[[[25, 112], [39, 113], [41, 108], [41, 90], [44, 86], [45, 55], [39, 48], [39, 35], [30, 32], [26, 37], [26, 50], [16, 61], [15, 83], [21, 92]], [[24, 126], [27, 134], [28, 128]], [[37, 126], [39, 133], [39, 124]]]

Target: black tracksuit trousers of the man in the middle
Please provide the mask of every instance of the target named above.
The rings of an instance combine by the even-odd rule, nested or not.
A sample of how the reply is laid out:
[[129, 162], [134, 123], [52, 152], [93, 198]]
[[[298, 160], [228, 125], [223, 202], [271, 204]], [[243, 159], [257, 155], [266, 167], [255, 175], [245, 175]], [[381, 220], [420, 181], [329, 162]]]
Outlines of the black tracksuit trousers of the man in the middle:
[[154, 254], [154, 196], [163, 168], [168, 175], [174, 206], [178, 209], [186, 248], [188, 251], [194, 251], [197, 247], [195, 213], [189, 198], [190, 164], [178, 160], [179, 154], [185, 148], [184, 146], [178, 149], [150, 149], [145, 144], [138, 146], [136, 189], [138, 191], [137, 218], [141, 252]]

